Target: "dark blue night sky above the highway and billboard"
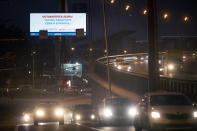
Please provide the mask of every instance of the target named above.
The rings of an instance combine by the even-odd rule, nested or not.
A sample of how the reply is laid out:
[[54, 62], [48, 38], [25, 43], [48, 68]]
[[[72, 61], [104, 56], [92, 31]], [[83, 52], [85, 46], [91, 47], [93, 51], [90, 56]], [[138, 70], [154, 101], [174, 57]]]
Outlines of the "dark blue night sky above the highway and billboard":
[[[74, 2], [88, 2], [88, 0], [75, 0]], [[116, 4], [110, 5], [106, 1], [107, 26], [109, 34], [119, 30], [135, 30], [133, 38], [146, 39], [146, 16], [142, 15], [146, 8], [145, 0], [116, 0]], [[125, 12], [125, 3], [131, 4], [131, 10]], [[71, 7], [71, 2], [69, 2]], [[73, 3], [73, 1], [72, 1]], [[195, 0], [158, 0], [158, 25], [159, 36], [196, 36], [197, 19]], [[87, 6], [88, 7], [88, 6]], [[93, 39], [103, 37], [103, 19], [101, 0], [93, 0]], [[1, 24], [15, 24], [25, 34], [29, 33], [29, 14], [58, 12], [58, 0], [3, 0], [0, 1]], [[167, 21], [162, 19], [162, 13], [169, 13]], [[190, 17], [188, 23], [183, 22], [184, 15]], [[9, 22], [5, 22], [9, 19]], [[119, 24], [120, 22], [120, 24]], [[119, 26], [120, 25], [120, 26]]]

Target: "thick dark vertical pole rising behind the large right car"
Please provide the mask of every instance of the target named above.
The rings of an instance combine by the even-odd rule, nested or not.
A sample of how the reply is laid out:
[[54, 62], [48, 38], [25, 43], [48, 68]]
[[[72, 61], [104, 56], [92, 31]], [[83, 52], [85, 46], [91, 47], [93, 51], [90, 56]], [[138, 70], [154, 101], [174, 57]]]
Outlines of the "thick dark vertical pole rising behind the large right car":
[[147, 7], [148, 7], [148, 54], [149, 54], [148, 92], [152, 92], [159, 87], [156, 0], [148, 0]]

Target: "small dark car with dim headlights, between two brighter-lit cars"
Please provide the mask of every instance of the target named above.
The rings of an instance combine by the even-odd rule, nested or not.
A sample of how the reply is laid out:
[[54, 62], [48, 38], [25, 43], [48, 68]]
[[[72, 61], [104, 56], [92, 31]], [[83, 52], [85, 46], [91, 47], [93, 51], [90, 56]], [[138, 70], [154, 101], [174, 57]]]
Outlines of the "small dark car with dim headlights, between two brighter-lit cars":
[[73, 123], [93, 123], [98, 121], [96, 109], [90, 104], [75, 105], [73, 109]]

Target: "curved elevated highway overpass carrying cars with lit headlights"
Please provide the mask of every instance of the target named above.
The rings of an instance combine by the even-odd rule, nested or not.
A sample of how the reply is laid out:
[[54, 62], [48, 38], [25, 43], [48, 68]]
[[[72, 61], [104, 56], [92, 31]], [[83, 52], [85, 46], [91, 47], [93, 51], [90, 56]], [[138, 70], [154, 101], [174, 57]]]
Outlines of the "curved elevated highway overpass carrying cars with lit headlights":
[[[179, 63], [172, 63], [167, 56], [166, 52], [161, 52], [159, 55], [160, 87], [158, 90], [181, 92], [195, 100], [197, 98], [197, 73], [194, 65], [197, 55], [185, 52]], [[117, 59], [122, 59], [121, 63], [128, 63], [130, 69], [119, 68]], [[148, 90], [147, 53], [114, 55], [109, 57], [109, 61], [113, 94], [138, 101]], [[106, 57], [97, 59], [89, 72], [89, 83], [93, 87], [95, 103], [108, 96], [106, 63]]]

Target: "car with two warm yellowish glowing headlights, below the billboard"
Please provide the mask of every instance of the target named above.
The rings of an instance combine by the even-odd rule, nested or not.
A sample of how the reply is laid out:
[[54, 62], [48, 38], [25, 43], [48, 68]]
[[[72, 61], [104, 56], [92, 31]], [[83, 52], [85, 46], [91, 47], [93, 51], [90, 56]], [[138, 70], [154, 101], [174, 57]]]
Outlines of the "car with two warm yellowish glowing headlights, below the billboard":
[[33, 112], [34, 125], [39, 122], [59, 122], [60, 125], [64, 124], [65, 109], [58, 103], [41, 103], [37, 105]]

